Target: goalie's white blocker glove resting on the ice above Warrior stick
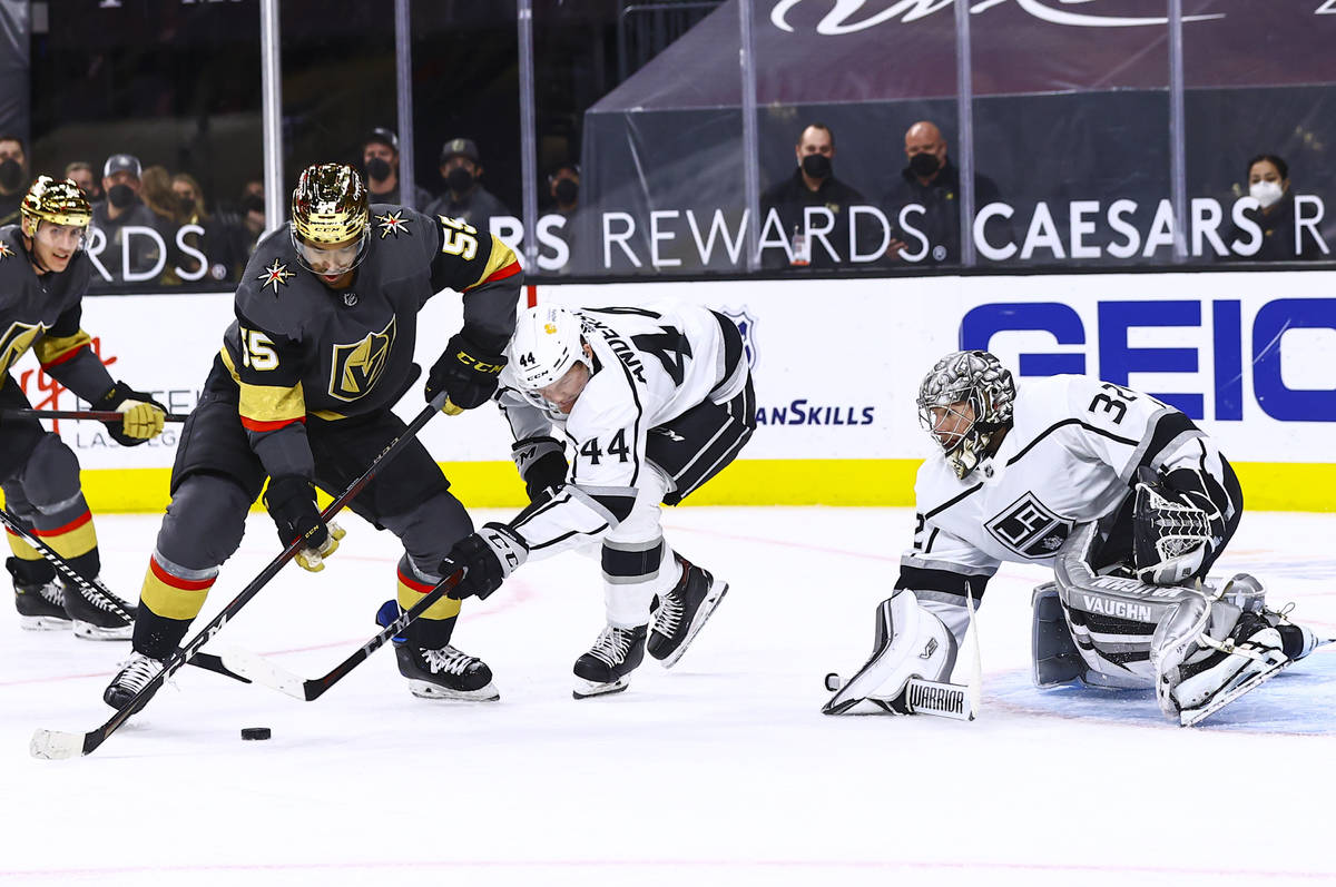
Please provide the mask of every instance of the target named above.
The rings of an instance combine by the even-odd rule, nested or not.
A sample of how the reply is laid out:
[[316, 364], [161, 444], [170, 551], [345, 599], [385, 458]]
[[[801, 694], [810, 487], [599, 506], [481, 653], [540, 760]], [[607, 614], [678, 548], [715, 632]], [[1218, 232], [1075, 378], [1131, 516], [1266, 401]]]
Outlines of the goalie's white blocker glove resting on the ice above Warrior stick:
[[872, 656], [822, 708], [843, 715], [868, 697], [894, 700], [910, 677], [945, 681], [955, 667], [955, 636], [914, 592], [900, 589], [876, 606]]

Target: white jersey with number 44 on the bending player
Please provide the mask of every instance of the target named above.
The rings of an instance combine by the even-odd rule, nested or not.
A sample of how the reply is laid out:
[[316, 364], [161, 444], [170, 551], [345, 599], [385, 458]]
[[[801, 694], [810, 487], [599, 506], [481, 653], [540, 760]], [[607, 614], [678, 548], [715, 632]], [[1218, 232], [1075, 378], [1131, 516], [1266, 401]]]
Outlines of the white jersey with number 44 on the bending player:
[[[593, 375], [570, 414], [524, 391], [510, 366], [497, 401], [517, 441], [565, 437], [570, 470], [550, 502], [526, 509], [516, 530], [533, 554], [552, 554], [617, 526], [631, 514], [653, 429], [747, 385], [747, 362], [725, 361], [727, 318], [691, 305], [572, 311], [593, 350]], [[514, 355], [510, 365], [514, 363]], [[657, 505], [659, 502], [655, 502]]]

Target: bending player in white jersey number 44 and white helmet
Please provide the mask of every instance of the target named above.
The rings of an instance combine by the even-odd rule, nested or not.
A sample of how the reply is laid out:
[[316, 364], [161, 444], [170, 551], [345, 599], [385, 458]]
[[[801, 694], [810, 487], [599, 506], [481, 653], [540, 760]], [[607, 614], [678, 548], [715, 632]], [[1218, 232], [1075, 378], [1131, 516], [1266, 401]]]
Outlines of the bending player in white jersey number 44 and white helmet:
[[486, 597], [525, 560], [601, 540], [608, 625], [576, 660], [574, 696], [625, 689], [645, 649], [672, 667], [728, 589], [672, 550], [660, 502], [717, 474], [756, 427], [741, 334], [696, 306], [540, 306], [509, 358], [497, 401], [532, 504], [458, 542], [442, 574], [465, 566], [452, 596]]

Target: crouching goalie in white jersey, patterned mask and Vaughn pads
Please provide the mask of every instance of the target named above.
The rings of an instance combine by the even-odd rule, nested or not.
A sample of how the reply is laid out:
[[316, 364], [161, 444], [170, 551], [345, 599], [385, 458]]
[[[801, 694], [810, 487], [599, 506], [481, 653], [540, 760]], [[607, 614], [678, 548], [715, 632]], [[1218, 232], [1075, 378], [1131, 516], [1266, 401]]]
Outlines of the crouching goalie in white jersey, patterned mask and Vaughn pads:
[[1242, 493], [1181, 411], [1085, 377], [1017, 387], [987, 351], [938, 361], [918, 407], [939, 452], [915, 482], [914, 545], [878, 606], [872, 657], [824, 713], [864, 699], [904, 712], [908, 679], [949, 680], [966, 596], [979, 601], [1002, 561], [1054, 568], [1033, 596], [1037, 685], [1153, 685], [1184, 725], [1320, 643], [1268, 609], [1253, 577], [1206, 580]]

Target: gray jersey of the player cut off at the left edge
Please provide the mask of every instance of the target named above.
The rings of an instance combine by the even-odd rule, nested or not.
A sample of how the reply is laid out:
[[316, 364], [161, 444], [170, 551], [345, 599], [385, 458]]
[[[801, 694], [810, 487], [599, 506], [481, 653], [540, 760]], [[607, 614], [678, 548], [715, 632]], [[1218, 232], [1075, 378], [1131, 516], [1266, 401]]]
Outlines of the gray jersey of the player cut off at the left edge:
[[112, 386], [92, 338], [79, 327], [91, 275], [88, 255], [79, 251], [60, 274], [39, 277], [21, 228], [0, 228], [0, 374], [33, 349], [41, 369], [86, 401]]

